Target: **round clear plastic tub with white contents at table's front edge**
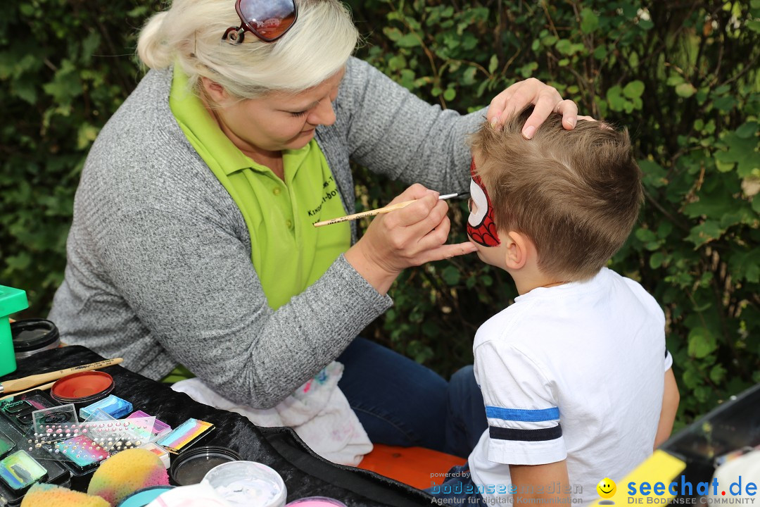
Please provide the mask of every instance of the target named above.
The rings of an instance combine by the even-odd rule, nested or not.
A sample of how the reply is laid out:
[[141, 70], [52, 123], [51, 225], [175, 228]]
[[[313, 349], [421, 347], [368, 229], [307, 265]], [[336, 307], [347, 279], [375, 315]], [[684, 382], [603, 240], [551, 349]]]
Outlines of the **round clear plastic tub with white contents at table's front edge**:
[[287, 488], [283, 478], [265, 464], [231, 461], [212, 468], [203, 478], [231, 505], [284, 507]]

